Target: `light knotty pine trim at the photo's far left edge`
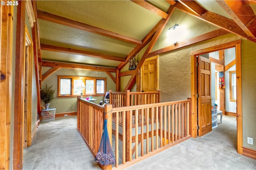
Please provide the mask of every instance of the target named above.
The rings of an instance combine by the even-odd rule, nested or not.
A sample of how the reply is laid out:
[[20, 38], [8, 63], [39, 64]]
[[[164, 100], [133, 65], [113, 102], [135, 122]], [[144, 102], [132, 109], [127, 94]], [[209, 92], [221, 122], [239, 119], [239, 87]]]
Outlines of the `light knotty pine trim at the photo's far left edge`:
[[[10, 120], [11, 120], [11, 96], [12, 96], [12, 35], [13, 35], [13, 6], [0, 7], [0, 169], [10, 169]], [[3, 77], [2, 77], [3, 76]], [[5, 76], [5, 77], [4, 77]]]

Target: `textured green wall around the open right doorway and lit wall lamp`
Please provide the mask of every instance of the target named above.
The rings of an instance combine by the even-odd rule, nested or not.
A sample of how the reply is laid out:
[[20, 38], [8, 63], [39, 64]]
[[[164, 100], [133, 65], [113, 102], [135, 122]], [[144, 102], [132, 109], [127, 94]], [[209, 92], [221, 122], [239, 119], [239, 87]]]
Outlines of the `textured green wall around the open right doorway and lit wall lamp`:
[[[176, 14], [176, 15], [175, 15]], [[179, 16], [177, 16], [179, 14]], [[210, 25], [188, 14], [176, 11], [173, 17], [180, 18], [179, 25], [186, 24], [191, 20], [193, 25], [187, 27], [189, 34], [187, 39], [196, 37], [214, 29], [218, 29], [214, 25]], [[166, 30], [172, 23], [170, 18], [166, 27], [156, 41], [152, 51], [162, 49], [172, 45], [168, 42]], [[181, 49], [176, 49], [167, 53], [163, 53], [159, 57], [159, 90], [161, 90], [161, 102], [186, 100], [191, 96], [191, 57], [190, 52], [213, 47], [216, 45], [228, 43], [242, 39], [238, 35], [229, 33], [227, 35], [213, 38], [207, 41], [189, 45]], [[151, 52], [152, 52], [151, 51]], [[242, 40], [241, 44], [241, 60], [242, 60], [242, 116], [243, 116], [243, 146], [256, 149], [256, 145], [247, 144], [247, 137], [251, 137], [256, 141], [256, 43], [248, 40]], [[121, 85], [124, 86], [128, 82], [128, 78], [121, 79]], [[124, 88], [124, 87], [122, 87]], [[121, 89], [122, 89], [121, 88]], [[254, 142], [256, 143], [256, 142]]]

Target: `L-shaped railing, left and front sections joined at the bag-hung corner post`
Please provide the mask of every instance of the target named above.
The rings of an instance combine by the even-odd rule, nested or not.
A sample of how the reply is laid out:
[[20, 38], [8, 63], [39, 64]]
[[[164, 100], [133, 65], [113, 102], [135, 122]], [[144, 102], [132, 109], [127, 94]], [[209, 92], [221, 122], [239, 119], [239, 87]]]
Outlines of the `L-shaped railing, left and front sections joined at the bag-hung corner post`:
[[[110, 143], [114, 139], [115, 144], [113, 168], [126, 168], [191, 135], [191, 100], [124, 107], [106, 104], [103, 107], [78, 97], [77, 113], [77, 129], [94, 157], [100, 146], [104, 118], [108, 118]], [[111, 169], [112, 166], [101, 168]]]

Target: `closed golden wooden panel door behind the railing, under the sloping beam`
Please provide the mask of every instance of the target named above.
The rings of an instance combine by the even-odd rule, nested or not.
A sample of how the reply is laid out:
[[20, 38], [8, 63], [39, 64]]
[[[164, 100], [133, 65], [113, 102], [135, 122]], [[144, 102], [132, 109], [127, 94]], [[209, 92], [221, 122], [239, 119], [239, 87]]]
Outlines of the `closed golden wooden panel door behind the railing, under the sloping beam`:
[[158, 90], [158, 56], [146, 59], [141, 67], [141, 91], [156, 92]]

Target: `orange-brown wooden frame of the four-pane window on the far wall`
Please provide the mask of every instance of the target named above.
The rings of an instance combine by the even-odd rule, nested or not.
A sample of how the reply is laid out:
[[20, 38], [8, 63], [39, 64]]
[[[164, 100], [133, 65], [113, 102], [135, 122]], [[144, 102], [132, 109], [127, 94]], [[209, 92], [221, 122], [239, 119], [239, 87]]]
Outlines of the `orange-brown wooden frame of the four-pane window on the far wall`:
[[[103, 78], [103, 77], [88, 77], [88, 76], [62, 76], [62, 75], [58, 75], [58, 87], [57, 87], [57, 98], [73, 98], [73, 97], [77, 97], [80, 96], [80, 94], [74, 94], [74, 80], [82, 80], [86, 86], [86, 80], [93, 80], [94, 81], [94, 93], [93, 94], [85, 94], [86, 90], [85, 88], [83, 88], [83, 96], [105, 96], [106, 94], [106, 82], [107, 82], [107, 78]], [[71, 94], [66, 94], [66, 95], [62, 95], [60, 94], [60, 79], [61, 78], [66, 78], [66, 79], [71, 79]], [[97, 93], [97, 80], [104, 80], [104, 94], [101, 93]]]

